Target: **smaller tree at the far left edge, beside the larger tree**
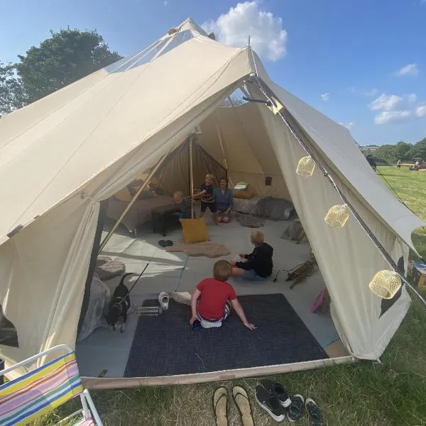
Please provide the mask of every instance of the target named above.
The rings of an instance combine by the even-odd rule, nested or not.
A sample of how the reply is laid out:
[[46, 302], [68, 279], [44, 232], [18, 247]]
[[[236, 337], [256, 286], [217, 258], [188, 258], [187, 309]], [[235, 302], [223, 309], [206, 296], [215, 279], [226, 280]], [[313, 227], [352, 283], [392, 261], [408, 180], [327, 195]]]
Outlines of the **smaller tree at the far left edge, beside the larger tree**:
[[26, 104], [26, 94], [12, 64], [0, 62], [0, 116]]

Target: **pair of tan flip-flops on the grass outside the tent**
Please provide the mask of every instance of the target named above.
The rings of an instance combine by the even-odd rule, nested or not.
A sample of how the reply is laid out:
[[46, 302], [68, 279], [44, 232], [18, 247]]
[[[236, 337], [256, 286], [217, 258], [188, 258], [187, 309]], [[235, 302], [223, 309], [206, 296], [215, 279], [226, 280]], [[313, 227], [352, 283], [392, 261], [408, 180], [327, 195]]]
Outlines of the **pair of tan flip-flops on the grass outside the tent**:
[[[241, 386], [234, 386], [234, 388], [232, 388], [232, 396], [234, 397], [236, 408], [239, 410], [241, 425], [254, 426], [249, 396], [244, 388], [241, 388]], [[217, 426], [228, 426], [228, 409], [228, 391], [226, 391], [224, 387], [217, 388], [213, 393], [213, 410], [216, 416]]]

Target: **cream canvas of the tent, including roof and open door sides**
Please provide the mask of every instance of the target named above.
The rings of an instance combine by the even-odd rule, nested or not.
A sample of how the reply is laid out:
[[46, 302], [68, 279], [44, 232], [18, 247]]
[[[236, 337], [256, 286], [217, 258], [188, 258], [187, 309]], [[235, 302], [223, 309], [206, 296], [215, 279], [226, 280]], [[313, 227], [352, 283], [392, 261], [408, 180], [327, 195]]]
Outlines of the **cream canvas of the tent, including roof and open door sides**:
[[383, 313], [368, 283], [386, 262], [354, 219], [339, 231], [324, 223], [341, 200], [319, 170], [310, 180], [295, 175], [305, 153], [280, 116], [264, 104], [219, 108], [244, 84], [264, 99], [249, 82], [253, 73], [381, 244], [407, 264], [410, 233], [425, 223], [383, 187], [350, 133], [274, 84], [251, 48], [218, 43], [188, 19], [142, 53], [1, 118], [0, 198], [7, 208], [0, 221], [0, 302], [19, 344], [0, 345], [6, 363], [55, 344], [75, 346], [99, 203], [178, 148], [195, 126], [202, 129], [200, 146], [232, 181], [293, 201], [342, 342], [359, 358], [381, 355], [410, 298], [404, 289]]

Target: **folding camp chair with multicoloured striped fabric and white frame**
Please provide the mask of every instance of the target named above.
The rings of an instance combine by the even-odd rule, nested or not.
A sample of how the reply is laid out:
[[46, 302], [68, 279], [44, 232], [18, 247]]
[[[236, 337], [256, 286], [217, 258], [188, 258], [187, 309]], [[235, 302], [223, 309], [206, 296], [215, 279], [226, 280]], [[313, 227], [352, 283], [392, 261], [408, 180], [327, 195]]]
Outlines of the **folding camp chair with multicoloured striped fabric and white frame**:
[[102, 426], [89, 391], [83, 389], [75, 352], [65, 344], [5, 368], [0, 371], [0, 376], [33, 364], [53, 351], [65, 354], [0, 386], [1, 426], [26, 425], [77, 396], [80, 397], [82, 408], [60, 420], [57, 425], [67, 422], [67, 425], [74, 426]]

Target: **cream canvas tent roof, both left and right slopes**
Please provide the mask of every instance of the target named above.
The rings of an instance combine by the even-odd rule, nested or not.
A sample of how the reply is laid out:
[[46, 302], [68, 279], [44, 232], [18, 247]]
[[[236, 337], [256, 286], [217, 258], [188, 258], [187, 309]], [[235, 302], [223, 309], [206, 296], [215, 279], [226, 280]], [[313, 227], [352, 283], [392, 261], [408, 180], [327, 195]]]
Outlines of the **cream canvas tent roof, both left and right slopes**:
[[249, 52], [208, 38], [188, 18], [136, 55], [4, 116], [0, 199], [8, 200], [8, 209], [0, 244], [16, 226], [26, 226], [187, 111], [256, 70], [337, 172], [413, 247], [410, 234], [425, 222], [387, 190], [349, 131], [278, 87]]

